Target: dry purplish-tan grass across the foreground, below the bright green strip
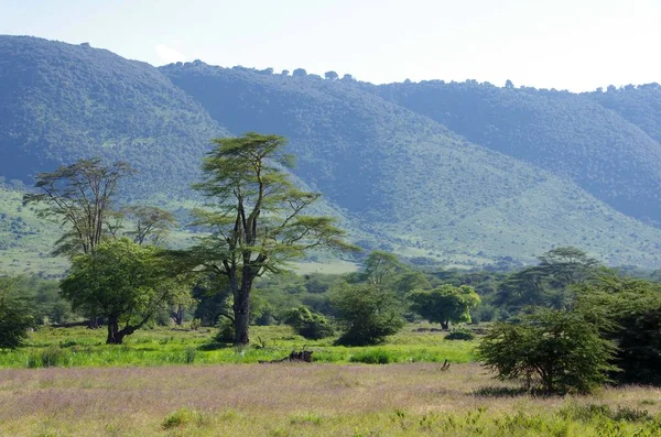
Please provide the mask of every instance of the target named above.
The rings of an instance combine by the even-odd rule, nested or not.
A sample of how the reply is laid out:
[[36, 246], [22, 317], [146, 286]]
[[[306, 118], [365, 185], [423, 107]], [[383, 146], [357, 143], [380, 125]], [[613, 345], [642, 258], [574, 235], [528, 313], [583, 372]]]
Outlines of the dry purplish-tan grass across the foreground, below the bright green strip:
[[[561, 419], [559, 412], [588, 404], [644, 409], [650, 416], [661, 409], [661, 391], [652, 387], [535, 397], [516, 394], [513, 385], [494, 381], [477, 364], [452, 365], [446, 372], [440, 368], [413, 363], [2, 370], [0, 435], [615, 436], [642, 425], [622, 422], [625, 434], [608, 434], [597, 422]], [[485, 390], [495, 386], [506, 390]]]

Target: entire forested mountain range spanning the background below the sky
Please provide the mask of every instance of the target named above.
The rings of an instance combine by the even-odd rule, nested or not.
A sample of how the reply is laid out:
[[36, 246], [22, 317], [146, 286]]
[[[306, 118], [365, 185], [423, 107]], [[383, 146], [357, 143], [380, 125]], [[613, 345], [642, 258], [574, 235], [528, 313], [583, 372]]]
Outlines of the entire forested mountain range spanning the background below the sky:
[[[62, 267], [45, 255], [58, 230], [21, 207], [19, 181], [79, 157], [124, 160], [140, 173], [122, 203], [185, 219], [209, 139], [246, 131], [289, 138], [296, 184], [325, 195], [314, 212], [337, 217], [368, 250], [463, 266], [530, 262], [567, 244], [610, 264], [661, 256], [661, 232], [630, 217], [659, 217], [658, 142], [588, 96], [375, 87], [198, 61], [154, 68], [85, 44], [0, 36], [0, 176], [15, 188], [0, 190], [0, 271]], [[184, 229], [172, 243], [191, 238]]]

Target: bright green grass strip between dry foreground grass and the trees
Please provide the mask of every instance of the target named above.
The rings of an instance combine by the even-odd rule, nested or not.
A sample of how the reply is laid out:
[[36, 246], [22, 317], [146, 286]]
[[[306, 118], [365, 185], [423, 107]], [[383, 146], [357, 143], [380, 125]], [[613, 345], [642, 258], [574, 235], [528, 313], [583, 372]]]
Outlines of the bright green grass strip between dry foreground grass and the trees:
[[415, 332], [411, 326], [388, 343], [377, 347], [333, 346], [333, 338], [306, 340], [288, 326], [253, 327], [253, 347], [236, 349], [213, 342], [209, 329], [143, 329], [124, 345], [105, 345], [105, 330], [85, 328], [42, 328], [25, 347], [0, 351], [0, 368], [42, 367], [148, 367], [169, 364], [256, 363], [288, 356], [293, 349], [314, 351], [322, 363], [469, 362], [475, 342], [445, 341], [441, 332]]

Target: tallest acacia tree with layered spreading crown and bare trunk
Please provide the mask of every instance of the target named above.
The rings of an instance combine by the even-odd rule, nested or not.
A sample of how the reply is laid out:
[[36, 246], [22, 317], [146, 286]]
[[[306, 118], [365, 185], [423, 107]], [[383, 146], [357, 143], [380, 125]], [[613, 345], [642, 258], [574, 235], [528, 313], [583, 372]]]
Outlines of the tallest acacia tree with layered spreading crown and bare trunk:
[[258, 276], [281, 272], [308, 249], [355, 248], [343, 240], [333, 218], [304, 215], [321, 195], [296, 188], [282, 170], [293, 165], [293, 157], [282, 152], [284, 138], [249, 132], [214, 143], [202, 166], [204, 179], [194, 185], [213, 207], [194, 212], [196, 225], [207, 227], [210, 234], [192, 254], [199, 266], [227, 278], [235, 343], [247, 345], [250, 296]]

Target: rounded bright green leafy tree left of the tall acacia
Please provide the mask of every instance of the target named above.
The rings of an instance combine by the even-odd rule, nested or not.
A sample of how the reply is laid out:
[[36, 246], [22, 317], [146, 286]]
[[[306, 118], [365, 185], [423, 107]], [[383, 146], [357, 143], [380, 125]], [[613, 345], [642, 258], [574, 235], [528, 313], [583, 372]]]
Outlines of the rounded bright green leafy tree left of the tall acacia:
[[74, 310], [105, 318], [108, 345], [120, 345], [177, 295], [187, 293], [162, 250], [128, 239], [104, 241], [94, 253], [74, 258], [59, 287]]

